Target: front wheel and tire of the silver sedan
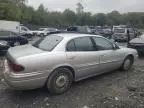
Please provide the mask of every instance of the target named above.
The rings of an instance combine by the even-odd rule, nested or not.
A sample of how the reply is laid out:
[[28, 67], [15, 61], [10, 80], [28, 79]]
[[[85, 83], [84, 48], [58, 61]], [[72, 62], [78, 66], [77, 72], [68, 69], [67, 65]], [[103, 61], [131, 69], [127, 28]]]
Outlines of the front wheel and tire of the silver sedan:
[[122, 64], [121, 69], [124, 71], [128, 71], [133, 66], [134, 58], [132, 56], [127, 56]]

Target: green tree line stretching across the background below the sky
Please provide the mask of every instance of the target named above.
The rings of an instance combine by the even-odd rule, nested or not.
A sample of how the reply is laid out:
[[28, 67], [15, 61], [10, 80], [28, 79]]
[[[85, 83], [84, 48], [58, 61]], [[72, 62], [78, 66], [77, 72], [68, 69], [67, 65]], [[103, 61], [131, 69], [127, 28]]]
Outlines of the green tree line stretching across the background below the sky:
[[119, 25], [133, 24], [137, 28], [144, 27], [144, 12], [110, 13], [84, 12], [81, 3], [76, 12], [65, 9], [63, 12], [49, 11], [42, 4], [37, 9], [27, 5], [26, 0], [0, 0], [0, 20], [20, 21], [22, 23], [67, 27], [74, 25]]

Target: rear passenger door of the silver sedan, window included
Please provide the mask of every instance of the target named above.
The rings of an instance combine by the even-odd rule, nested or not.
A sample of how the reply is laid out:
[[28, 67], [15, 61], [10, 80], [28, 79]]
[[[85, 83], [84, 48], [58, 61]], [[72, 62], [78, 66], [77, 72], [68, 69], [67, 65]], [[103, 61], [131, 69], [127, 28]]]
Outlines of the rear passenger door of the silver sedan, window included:
[[83, 79], [99, 71], [99, 55], [90, 37], [73, 39], [67, 44], [67, 60], [74, 67], [76, 79]]

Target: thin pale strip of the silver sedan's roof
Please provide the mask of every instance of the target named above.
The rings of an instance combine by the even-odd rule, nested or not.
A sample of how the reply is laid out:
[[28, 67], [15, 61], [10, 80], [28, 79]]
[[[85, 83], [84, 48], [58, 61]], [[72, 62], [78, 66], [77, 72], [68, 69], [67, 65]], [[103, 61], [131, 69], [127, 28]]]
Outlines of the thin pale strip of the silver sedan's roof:
[[61, 36], [64, 38], [76, 38], [76, 37], [85, 37], [85, 36], [96, 36], [96, 37], [102, 37], [99, 35], [93, 35], [93, 34], [79, 34], [79, 33], [58, 33], [58, 34], [53, 34], [55, 36]]

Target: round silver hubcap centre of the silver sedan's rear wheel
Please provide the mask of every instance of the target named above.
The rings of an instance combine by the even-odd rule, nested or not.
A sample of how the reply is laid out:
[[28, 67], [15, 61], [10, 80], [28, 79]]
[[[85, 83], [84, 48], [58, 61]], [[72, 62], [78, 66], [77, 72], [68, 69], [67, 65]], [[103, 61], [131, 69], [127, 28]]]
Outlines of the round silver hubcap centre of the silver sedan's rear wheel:
[[61, 75], [56, 79], [56, 85], [58, 87], [63, 87], [66, 84], [66, 82], [67, 82], [67, 77], [64, 75]]

